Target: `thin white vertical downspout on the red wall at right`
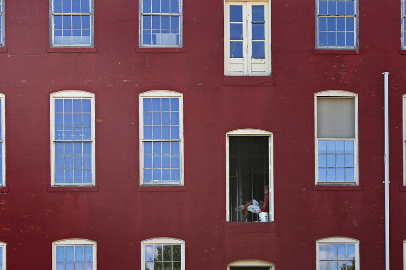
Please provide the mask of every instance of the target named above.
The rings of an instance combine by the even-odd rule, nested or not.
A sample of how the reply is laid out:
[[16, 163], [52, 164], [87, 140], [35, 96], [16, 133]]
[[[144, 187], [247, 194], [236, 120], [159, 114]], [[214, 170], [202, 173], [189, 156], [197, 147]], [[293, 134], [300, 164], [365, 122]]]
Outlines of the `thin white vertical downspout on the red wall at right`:
[[385, 106], [385, 269], [389, 270], [389, 72], [384, 72]]

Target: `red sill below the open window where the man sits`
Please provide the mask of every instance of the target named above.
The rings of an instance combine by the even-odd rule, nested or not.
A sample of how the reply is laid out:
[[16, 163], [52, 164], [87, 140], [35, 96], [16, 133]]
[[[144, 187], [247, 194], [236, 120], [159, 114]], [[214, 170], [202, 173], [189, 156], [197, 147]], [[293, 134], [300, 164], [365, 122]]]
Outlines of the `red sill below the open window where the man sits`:
[[224, 230], [226, 234], [255, 234], [275, 233], [276, 222], [226, 222]]

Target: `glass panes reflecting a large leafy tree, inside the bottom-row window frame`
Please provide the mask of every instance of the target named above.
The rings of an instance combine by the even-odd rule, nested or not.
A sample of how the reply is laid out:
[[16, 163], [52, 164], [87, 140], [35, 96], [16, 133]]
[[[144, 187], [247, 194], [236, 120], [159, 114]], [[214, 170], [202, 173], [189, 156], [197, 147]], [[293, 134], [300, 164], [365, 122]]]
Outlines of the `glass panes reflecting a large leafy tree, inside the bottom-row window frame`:
[[181, 245], [145, 245], [145, 270], [181, 270]]

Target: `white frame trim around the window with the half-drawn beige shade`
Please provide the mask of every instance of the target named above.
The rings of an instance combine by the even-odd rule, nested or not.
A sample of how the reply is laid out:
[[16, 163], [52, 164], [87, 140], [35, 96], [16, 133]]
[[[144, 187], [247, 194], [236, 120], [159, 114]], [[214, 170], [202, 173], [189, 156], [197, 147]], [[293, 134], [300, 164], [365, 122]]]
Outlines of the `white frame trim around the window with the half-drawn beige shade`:
[[[319, 145], [317, 140], [317, 98], [318, 97], [353, 97], [354, 98], [354, 125], [355, 125], [355, 138], [354, 138], [354, 182], [355, 185], [359, 184], [359, 166], [358, 166], [358, 94], [354, 92], [344, 91], [344, 90], [326, 90], [317, 92], [314, 94], [314, 148], [315, 148], [315, 184], [332, 184], [332, 185], [346, 185], [354, 184], [354, 182], [320, 182], [319, 179]], [[334, 138], [326, 138], [334, 139]]]

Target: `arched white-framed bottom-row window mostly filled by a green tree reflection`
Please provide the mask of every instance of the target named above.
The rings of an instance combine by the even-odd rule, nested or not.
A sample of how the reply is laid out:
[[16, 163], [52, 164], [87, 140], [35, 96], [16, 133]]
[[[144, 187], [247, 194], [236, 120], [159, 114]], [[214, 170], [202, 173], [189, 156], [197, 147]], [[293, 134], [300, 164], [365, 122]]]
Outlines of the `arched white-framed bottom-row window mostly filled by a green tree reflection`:
[[166, 237], [141, 241], [141, 269], [185, 270], [185, 241]]

